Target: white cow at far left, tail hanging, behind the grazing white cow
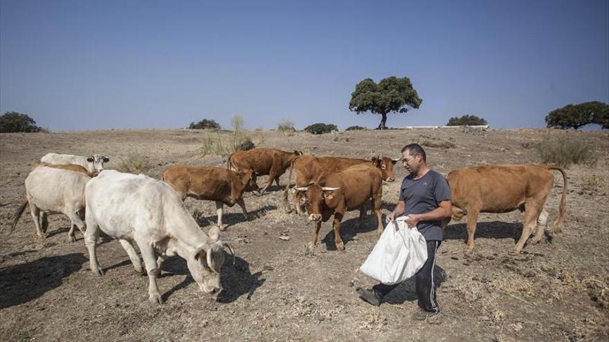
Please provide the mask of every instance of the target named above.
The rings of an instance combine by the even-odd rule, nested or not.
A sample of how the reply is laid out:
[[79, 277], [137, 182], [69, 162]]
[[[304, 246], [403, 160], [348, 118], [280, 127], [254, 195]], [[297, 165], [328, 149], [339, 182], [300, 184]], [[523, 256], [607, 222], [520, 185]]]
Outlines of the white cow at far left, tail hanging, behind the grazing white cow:
[[75, 242], [74, 227], [84, 234], [84, 186], [89, 180], [89, 172], [77, 165], [36, 165], [26, 178], [26, 200], [15, 213], [11, 231], [29, 204], [38, 236], [46, 236], [48, 213], [63, 213], [71, 221], [68, 241]]

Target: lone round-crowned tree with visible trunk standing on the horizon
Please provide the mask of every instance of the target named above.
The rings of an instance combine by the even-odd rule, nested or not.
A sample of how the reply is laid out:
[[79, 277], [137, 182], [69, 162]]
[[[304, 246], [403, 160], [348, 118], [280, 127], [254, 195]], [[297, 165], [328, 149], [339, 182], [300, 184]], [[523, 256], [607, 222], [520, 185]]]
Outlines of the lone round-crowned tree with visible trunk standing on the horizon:
[[355, 86], [349, 101], [349, 111], [358, 114], [370, 111], [382, 115], [377, 129], [387, 129], [387, 114], [406, 113], [410, 108], [419, 108], [423, 100], [417, 94], [408, 77], [387, 77], [379, 84], [374, 80], [363, 79]]

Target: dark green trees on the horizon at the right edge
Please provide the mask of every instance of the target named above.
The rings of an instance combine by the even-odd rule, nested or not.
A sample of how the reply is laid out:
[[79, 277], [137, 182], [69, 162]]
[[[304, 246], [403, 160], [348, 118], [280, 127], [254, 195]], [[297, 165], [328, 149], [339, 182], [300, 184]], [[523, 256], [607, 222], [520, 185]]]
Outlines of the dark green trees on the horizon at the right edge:
[[563, 108], [554, 109], [545, 117], [548, 127], [558, 129], [579, 129], [587, 124], [599, 124], [608, 129], [609, 105], [599, 101], [567, 104]]

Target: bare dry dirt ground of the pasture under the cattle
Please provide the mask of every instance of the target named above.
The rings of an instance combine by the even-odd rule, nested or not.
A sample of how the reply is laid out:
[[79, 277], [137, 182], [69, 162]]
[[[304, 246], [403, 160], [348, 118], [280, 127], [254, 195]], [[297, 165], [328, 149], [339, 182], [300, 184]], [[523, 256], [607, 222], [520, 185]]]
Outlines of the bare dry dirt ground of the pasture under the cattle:
[[[580, 341], [609, 340], [609, 135], [569, 132], [594, 147], [596, 167], [567, 170], [567, 219], [552, 243], [527, 245], [509, 256], [522, 231], [522, 213], [482, 214], [475, 248], [464, 256], [464, 222], [451, 222], [436, 262], [442, 313], [411, 321], [417, 308], [414, 283], [407, 281], [388, 303], [363, 303], [354, 284], [372, 279], [357, 272], [378, 238], [374, 216], [356, 231], [356, 212], [345, 216], [345, 252], [336, 251], [329, 223], [313, 254], [305, 252], [311, 226], [304, 216], [285, 213], [282, 191], [245, 196], [255, 218], [245, 221], [238, 206], [225, 208], [230, 225], [221, 238], [232, 243], [235, 265], [222, 269], [224, 291], [212, 301], [199, 291], [185, 260], [167, 260], [158, 281], [165, 304], [147, 301], [147, 277], [135, 274], [116, 240], [102, 238], [98, 257], [106, 274], [89, 271], [82, 235], [67, 243], [69, 221], [50, 217], [48, 237], [38, 238], [28, 211], [7, 234], [24, 200], [30, 166], [48, 152], [111, 158], [147, 155], [158, 178], [175, 164], [224, 166], [221, 156], [202, 156], [201, 131], [88, 131], [0, 135], [0, 340], [1, 341]], [[563, 131], [451, 130], [356, 131], [312, 136], [251, 132], [259, 146], [308, 154], [369, 158], [399, 156], [410, 142], [428, 145], [431, 167], [442, 173], [463, 166], [538, 162], [535, 146]], [[451, 146], [451, 143], [454, 146]], [[432, 147], [437, 146], [437, 147]], [[383, 184], [384, 214], [397, 202], [405, 171]], [[547, 201], [556, 218], [562, 178]], [[260, 178], [263, 184], [266, 178]], [[282, 184], [287, 174], [282, 177]], [[201, 229], [215, 222], [213, 202], [188, 199]], [[280, 236], [289, 240], [280, 240]]]

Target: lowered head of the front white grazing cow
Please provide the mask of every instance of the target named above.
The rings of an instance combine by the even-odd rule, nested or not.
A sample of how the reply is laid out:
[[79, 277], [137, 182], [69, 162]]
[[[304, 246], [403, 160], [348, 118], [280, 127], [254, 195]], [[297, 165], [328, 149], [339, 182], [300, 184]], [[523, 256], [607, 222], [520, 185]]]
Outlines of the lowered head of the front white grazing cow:
[[214, 227], [208, 232], [209, 243], [199, 247], [192, 258], [187, 259], [188, 270], [199, 289], [206, 294], [218, 294], [222, 290], [220, 269], [224, 263], [224, 250], [235, 256], [233, 249], [219, 239], [219, 229]]

